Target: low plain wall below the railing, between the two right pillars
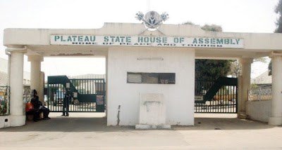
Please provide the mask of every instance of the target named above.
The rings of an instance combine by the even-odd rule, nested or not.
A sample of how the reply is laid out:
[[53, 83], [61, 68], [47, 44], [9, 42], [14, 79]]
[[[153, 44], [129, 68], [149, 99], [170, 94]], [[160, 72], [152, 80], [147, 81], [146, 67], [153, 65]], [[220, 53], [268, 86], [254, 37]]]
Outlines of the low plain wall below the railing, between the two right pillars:
[[252, 120], [269, 122], [271, 100], [246, 102], [246, 114]]

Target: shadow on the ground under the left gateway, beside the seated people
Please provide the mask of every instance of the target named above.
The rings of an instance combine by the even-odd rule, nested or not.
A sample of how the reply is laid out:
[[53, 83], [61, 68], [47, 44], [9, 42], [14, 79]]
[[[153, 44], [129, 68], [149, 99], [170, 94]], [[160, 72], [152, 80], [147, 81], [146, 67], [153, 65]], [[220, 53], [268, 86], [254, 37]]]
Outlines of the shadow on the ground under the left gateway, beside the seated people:
[[21, 127], [2, 128], [0, 132], [116, 132], [135, 130], [133, 126], [106, 126], [106, 118], [51, 118], [47, 121], [27, 121]]

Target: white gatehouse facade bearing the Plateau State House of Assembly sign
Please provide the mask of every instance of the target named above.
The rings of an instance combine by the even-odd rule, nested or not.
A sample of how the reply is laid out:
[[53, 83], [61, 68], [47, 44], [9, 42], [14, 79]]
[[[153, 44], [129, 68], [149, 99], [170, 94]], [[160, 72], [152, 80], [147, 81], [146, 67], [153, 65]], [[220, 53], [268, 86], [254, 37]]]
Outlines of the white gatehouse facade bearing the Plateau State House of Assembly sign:
[[[282, 34], [207, 32], [197, 25], [105, 23], [100, 29], [5, 29], [11, 59], [11, 126], [25, 124], [23, 55], [31, 62], [31, 88], [40, 91], [44, 57], [105, 57], [107, 125], [136, 125], [140, 95], [161, 95], [167, 125], [194, 125], [195, 59], [238, 59], [238, 116], [246, 116], [253, 58], [273, 59], [269, 124], [282, 124]], [[146, 76], [146, 77], [145, 77]], [[156, 77], [158, 76], [158, 77]], [[151, 102], [151, 101], [150, 101]]]

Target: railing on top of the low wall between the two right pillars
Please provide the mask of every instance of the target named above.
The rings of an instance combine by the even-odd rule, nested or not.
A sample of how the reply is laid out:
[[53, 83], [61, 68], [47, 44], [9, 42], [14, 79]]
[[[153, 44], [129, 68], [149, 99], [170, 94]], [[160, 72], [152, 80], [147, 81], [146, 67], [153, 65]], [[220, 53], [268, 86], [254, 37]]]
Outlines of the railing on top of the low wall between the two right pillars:
[[271, 100], [272, 89], [271, 85], [253, 86], [249, 90], [249, 100]]

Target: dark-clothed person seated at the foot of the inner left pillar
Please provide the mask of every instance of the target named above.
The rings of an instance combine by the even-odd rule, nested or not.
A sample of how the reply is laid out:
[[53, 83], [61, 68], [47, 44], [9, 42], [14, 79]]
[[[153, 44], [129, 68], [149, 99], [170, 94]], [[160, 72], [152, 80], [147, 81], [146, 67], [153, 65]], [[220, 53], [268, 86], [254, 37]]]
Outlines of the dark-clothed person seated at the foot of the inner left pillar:
[[33, 117], [33, 121], [38, 121], [39, 120], [39, 114], [41, 112], [43, 112], [43, 116], [44, 116], [44, 120], [49, 119], [49, 112], [50, 110], [46, 107], [43, 106], [42, 102], [39, 101], [39, 97], [37, 95], [37, 91], [33, 90], [33, 97], [31, 100], [31, 103], [33, 104], [33, 112], [34, 112], [34, 117]]

